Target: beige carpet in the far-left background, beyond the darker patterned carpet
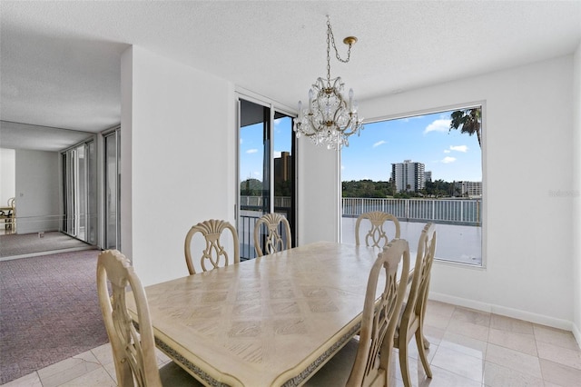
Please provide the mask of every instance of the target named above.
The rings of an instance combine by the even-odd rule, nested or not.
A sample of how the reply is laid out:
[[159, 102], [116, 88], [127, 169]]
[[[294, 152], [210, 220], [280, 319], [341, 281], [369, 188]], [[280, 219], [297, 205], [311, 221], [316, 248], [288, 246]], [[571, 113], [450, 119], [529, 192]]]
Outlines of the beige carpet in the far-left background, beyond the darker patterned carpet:
[[20, 258], [52, 252], [89, 250], [95, 247], [59, 232], [0, 235], [0, 258]]

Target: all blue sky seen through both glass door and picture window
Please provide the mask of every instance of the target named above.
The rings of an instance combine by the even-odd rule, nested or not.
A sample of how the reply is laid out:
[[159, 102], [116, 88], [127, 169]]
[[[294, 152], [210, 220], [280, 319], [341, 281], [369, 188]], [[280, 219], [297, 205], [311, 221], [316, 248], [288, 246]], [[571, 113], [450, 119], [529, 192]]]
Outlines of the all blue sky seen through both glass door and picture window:
[[[482, 181], [481, 151], [476, 135], [448, 133], [450, 112], [424, 114], [365, 124], [360, 136], [350, 136], [341, 151], [341, 180], [389, 181], [392, 163], [411, 160], [426, 165], [433, 180]], [[276, 120], [275, 157], [291, 150], [291, 120]], [[241, 180], [262, 180], [261, 125], [241, 131]], [[315, 146], [314, 144], [305, 144]], [[324, 147], [320, 152], [329, 151]]]

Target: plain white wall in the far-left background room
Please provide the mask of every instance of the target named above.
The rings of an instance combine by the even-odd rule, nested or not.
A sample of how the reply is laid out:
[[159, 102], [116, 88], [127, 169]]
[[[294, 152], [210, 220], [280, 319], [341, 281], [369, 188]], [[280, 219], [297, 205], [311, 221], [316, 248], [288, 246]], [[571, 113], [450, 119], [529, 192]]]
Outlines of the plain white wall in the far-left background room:
[[58, 231], [62, 219], [59, 154], [15, 151], [16, 233]]

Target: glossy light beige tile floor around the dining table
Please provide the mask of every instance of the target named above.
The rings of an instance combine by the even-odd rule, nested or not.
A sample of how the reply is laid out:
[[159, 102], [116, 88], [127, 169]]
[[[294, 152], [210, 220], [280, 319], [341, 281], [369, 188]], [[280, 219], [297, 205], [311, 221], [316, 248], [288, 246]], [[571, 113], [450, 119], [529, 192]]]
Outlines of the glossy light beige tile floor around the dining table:
[[[430, 342], [428, 379], [409, 344], [414, 386], [505, 387], [581, 386], [581, 349], [571, 332], [430, 301], [424, 331]], [[392, 382], [403, 386], [397, 353]], [[115, 371], [109, 344], [48, 366], [5, 384], [14, 386], [114, 386]], [[169, 362], [158, 352], [160, 365]]]

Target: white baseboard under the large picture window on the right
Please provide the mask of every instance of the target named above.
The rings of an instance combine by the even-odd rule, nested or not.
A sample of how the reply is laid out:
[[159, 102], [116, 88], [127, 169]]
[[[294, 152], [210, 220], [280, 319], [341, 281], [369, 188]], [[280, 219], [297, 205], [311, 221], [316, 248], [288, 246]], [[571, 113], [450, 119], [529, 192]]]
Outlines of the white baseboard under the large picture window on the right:
[[530, 323], [547, 325], [565, 331], [570, 331], [575, 336], [576, 342], [579, 345], [579, 347], [581, 347], [581, 332], [579, 332], [578, 327], [576, 327], [576, 325], [573, 322], [556, 319], [554, 317], [550, 317], [543, 314], [530, 313], [514, 308], [507, 308], [506, 306], [494, 305], [491, 303], [481, 303], [478, 301], [468, 300], [466, 298], [455, 297], [442, 293], [430, 292], [429, 299], [434, 301], [440, 301], [442, 303], [451, 303], [453, 305], [458, 305], [465, 308], [476, 309], [477, 311], [500, 314], [503, 316], [512, 317], [514, 319], [524, 320]]

